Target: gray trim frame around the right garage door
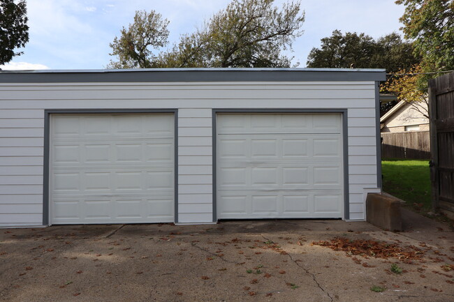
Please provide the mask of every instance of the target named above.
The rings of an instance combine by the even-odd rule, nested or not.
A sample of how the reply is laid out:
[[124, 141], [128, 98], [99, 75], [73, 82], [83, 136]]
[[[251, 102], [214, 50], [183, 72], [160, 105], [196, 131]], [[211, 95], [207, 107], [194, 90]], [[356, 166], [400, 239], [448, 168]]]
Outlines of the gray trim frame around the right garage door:
[[212, 110], [212, 144], [213, 144], [213, 221], [217, 221], [217, 130], [218, 113], [340, 113], [342, 114], [342, 146], [344, 157], [344, 220], [350, 219], [349, 199], [349, 119], [345, 108], [333, 109], [300, 109], [300, 108], [261, 108], [261, 109], [213, 109]]

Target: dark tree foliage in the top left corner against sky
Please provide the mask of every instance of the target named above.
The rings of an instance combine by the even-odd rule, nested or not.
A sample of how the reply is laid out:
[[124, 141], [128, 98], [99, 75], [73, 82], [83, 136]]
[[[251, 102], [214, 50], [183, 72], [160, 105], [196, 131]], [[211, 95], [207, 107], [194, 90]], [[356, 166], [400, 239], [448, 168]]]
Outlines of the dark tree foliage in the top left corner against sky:
[[15, 48], [24, 47], [29, 41], [27, 22], [25, 0], [17, 3], [13, 0], [0, 0], [0, 65], [23, 54], [15, 52]]

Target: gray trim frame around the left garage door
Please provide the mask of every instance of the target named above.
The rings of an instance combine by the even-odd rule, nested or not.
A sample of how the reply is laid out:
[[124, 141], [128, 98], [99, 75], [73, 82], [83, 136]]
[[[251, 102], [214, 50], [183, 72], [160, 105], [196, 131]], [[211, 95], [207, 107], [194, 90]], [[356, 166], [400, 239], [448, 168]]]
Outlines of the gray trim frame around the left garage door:
[[175, 223], [178, 222], [178, 110], [177, 109], [49, 109], [44, 110], [43, 225], [49, 225], [50, 114], [173, 113], [175, 122]]

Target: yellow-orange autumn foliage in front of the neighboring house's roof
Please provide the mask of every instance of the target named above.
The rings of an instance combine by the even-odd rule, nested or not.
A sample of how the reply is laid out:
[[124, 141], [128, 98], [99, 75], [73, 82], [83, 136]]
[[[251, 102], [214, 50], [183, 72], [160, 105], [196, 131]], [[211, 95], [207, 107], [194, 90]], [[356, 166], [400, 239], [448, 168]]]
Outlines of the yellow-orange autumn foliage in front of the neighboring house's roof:
[[[419, 64], [412, 66], [410, 69], [399, 70], [393, 77], [381, 85], [380, 90], [386, 93], [397, 95], [397, 100], [404, 100], [409, 103], [414, 110], [420, 112], [429, 119], [428, 105], [429, 98], [427, 89], [421, 89], [420, 77], [423, 75], [423, 68]], [[422, 106], [424, 103], [425, 106]]]

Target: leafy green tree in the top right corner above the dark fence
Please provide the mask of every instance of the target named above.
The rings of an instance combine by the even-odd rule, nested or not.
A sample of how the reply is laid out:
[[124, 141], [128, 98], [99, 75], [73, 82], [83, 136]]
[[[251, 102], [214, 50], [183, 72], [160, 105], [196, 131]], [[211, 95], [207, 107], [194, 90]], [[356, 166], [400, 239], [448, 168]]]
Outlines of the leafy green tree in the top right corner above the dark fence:
[[[413, 39], [416, 54], [423, 57], [422, 70], [454, 69], [454, 1], [397, 0], [405, 6], [400, 22], [405, 38]], [[437, 76], [437, 75], [436, 75]]]

